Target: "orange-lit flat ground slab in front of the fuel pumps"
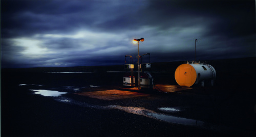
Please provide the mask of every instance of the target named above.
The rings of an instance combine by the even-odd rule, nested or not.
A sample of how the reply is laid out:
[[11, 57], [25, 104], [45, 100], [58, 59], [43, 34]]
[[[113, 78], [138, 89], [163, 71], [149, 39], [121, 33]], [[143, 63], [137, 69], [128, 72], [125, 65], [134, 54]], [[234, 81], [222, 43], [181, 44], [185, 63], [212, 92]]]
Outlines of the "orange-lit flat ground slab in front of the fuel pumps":
[[103, 100], [116, 100], [124, 98], [133, 98], [133, 97], [143, 97], [149, 96], [148, 94], [130, 92], [130, 91], [121, 91], [121, 90], [105, 90], [105, 91], [94, 91], [94, 92], [82, 92], [75, 93], [81, 96], [87, 96], [91, 98], [103, 99]]

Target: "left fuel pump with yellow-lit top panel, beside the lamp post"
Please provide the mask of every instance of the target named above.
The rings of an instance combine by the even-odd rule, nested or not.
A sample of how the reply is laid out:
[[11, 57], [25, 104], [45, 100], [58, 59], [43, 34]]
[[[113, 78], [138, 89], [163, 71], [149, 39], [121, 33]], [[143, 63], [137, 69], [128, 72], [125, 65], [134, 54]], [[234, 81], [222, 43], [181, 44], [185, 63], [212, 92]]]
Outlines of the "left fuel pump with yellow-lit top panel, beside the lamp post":
[[[126, 57], [130, 57], [130, 64], [126, 64]], [[123, 86], [127, 86], [127, 87], [134, 87], [134, 81], [135, 81], [135, 77], [133, 75], [133, 69], [134, 69], [134, 65], [133, 65], [133, 57], [132, 56], [124, 56], [125, 58], [125, 64], [124, 64], [124, 69], [130, 69], [130, 72], [126, 72], [123, 75]]]

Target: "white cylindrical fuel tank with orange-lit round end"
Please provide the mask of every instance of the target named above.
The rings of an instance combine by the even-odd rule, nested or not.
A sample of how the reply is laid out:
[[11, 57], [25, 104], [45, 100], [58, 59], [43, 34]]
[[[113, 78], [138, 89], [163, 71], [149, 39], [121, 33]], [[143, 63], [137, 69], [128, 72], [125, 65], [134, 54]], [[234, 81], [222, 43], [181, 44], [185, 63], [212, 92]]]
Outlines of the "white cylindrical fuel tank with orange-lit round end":
[[209, 64], [181, 64], [175, 71], [175, 80], [180, 86], [190, 87], [202, 80], [215, 79], [216, 71]]

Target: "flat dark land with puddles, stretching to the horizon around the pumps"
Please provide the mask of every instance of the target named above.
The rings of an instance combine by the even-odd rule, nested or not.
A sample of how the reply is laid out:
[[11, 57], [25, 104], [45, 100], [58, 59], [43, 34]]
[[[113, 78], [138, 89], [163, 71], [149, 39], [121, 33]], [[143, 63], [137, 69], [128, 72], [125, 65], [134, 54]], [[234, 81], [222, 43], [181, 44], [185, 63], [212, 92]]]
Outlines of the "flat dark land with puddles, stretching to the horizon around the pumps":
[[[177, 86], [183, 63], [152, 63], [148, 71], [156, 85]], [[1, 136], [256, 136], [256, 58], [206, 63], [216, 69], [214, 86], [115, 100], [78, 93], [122, 88], [116, 71], [127, 71], [123, 65], [1, 69]], [[40, 90], [65, 94], [35, 94]]]

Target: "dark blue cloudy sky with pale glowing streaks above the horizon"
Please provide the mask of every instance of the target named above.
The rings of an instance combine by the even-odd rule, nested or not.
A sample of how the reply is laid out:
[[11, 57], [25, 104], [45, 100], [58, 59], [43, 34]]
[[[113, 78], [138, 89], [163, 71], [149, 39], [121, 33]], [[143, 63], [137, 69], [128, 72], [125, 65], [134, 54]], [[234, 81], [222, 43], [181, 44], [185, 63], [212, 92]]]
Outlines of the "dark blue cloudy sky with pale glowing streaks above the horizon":
[[[1, 1], [1, 67], [255, 57], [255, 1]], [[147, 58], [147, 57], [145, 57]], [[145, 59], [144, 59], [145, 60]]]

